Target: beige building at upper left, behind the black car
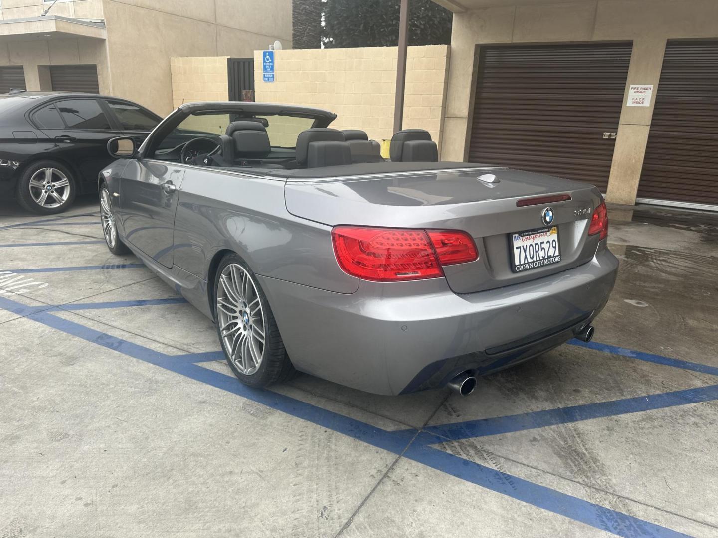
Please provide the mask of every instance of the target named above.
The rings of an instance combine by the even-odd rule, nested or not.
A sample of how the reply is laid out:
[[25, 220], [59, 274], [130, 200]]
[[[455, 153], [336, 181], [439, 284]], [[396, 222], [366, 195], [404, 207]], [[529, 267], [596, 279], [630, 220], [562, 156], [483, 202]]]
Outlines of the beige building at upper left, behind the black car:
[[276, 39], [292, 45], [291, 0], [52, 4], [0, 0], [0, 92], [98, 92], [164, 115], [172, 110], [171, 57], [251, 57]]

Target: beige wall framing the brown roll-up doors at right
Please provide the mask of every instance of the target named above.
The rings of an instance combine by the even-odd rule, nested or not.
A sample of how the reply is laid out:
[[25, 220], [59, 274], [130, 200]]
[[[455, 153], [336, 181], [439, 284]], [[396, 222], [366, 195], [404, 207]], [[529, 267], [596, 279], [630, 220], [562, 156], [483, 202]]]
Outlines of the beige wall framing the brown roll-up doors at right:
[[[597, 0], [512, 5], [454, 14], [442, 159], [467, 156], [477, 45], [633, 41], [626, 91], [653, 84], [650, 107], [623, 106], [607, 199], [633, 204], [667, 39], [718, 37], [716, 0]], [[625, 99], [624, 99], [625, 103]]]

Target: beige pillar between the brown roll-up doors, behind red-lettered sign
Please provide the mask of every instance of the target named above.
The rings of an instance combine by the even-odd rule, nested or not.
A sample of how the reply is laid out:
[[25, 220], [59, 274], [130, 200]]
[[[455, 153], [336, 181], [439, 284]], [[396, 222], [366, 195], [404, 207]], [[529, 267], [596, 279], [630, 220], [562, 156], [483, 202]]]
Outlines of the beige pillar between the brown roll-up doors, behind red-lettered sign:
[[[639, 38], [633, 41], [633, 52], [628, 67], [628, 79], [623, 95], [623, 108], [618, 122], [616, 145], [613, 151], [611, 174], [606, 192], [607, 202], [635, 204], [640, 171], [643, 167], [645, 143], [651, 128], [653, 105], [656, 103], [658, 79], [661, 77], [665, 38]], [[630, 85], [653, 85], [651, 106], [626, 106]]]

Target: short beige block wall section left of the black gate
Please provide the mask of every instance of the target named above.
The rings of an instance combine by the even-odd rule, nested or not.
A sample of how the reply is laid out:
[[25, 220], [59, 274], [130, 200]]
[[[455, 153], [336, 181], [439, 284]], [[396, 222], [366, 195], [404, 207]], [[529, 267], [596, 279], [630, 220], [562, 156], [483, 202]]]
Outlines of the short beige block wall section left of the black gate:
[[227, 56], [170, 58], [172, 106], [228, 100]]

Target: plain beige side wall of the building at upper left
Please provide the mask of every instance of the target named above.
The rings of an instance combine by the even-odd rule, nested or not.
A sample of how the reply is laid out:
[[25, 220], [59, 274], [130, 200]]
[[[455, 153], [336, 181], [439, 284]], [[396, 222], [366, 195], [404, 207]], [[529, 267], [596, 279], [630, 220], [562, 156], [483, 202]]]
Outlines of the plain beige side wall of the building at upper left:
[[[112, 93], [172, 110], [171, 57], [251, 57], [292, 46], [291, 0], [103, 0]], [[226, 70], [226, 60], [225, 60]]]

